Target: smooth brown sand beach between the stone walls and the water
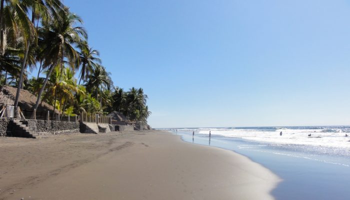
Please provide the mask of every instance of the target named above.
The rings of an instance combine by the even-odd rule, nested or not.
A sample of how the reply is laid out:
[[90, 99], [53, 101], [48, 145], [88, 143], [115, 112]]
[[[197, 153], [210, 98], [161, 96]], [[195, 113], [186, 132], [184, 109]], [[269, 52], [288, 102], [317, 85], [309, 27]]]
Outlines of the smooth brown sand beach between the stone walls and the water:
[[0, 137], [0, 199], [273, 199], [248, 158], [152, 131]]

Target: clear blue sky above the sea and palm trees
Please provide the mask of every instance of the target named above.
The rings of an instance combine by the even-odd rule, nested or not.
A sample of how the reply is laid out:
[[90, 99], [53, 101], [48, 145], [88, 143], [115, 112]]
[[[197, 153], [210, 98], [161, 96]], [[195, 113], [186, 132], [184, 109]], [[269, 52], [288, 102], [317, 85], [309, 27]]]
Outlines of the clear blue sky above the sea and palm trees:
[[350, 0], [64, 0], [152, 127], [350, 125]]

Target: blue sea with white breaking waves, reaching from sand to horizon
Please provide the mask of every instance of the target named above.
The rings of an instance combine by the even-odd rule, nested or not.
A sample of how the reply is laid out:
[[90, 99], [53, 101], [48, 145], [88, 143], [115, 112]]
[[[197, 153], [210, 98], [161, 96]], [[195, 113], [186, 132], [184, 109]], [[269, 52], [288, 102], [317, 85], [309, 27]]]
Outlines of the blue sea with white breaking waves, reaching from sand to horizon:
[[350, 126], [163, 129], [269, 168], [282, 179], [271, 191], [276, 199], [350, 199]]

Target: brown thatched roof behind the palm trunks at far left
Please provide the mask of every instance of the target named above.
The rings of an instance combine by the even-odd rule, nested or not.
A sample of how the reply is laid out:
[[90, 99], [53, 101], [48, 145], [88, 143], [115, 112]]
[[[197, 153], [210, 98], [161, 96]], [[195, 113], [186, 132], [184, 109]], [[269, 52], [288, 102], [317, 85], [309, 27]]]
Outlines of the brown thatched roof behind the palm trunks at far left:
[[[1, 86], [0, 104], [13, 105], [16, 92], [17, 92], [16, 87]], [[35, 105], [36, 98], [37, 97], [34, 94], [30, 93], [27, 90], [21, 89], [19, 94], [18, 106], [20, 107], [21, 110], [32, 111], [32, 107]], [[37, 107], [37, 111], [47, 112], [47, 110], [52, 111], [53, 106], [46, 102], [42, 102], [41, 104], [39, 103], [39, 106]], [[55, 113], [58, 113], [58, 110], [56, 110]]]

